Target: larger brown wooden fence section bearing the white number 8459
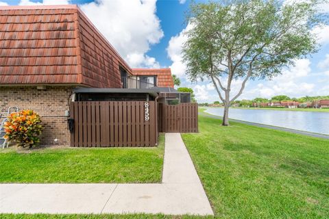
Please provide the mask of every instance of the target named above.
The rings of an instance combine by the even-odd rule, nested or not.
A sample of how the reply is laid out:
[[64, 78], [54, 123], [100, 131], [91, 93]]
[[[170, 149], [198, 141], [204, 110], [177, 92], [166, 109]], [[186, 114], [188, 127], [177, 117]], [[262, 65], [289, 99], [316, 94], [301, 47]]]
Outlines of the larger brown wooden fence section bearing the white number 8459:
[[155, 146], [154, 101], [78, 101], [70, 105], [71, 146]]

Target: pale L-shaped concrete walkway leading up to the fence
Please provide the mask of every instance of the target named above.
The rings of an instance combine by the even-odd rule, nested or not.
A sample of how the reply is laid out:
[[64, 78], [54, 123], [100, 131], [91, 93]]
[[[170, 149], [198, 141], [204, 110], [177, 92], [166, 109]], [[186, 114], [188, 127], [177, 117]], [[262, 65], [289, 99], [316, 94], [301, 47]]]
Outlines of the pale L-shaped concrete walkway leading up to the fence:
[[213, 215], [179, 133], [166, 133], [162, 183], [0, 184], [0, 213]]

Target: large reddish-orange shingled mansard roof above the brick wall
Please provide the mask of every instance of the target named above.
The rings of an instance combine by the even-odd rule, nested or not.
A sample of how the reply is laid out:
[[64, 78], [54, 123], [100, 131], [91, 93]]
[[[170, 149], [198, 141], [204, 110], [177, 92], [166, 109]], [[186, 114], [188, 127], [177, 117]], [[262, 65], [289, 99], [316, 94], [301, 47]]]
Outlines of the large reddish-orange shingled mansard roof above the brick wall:
[[0, 7], [0, 84], [121, 88], [120, 57], [77, 5]]

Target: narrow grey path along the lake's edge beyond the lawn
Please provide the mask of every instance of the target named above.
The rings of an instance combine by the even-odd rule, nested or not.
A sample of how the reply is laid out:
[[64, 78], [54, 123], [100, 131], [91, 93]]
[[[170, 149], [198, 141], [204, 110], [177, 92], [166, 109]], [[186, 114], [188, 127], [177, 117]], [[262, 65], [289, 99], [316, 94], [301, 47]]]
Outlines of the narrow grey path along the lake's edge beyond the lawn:
[[[208, 114], [208, 113], [203, 113], [203, 112], [199, 112], [199, 115], [207, 116], [207, 117], [210, 117], [210, 118], [223, 119], [222, 116], [215, 116], [215, 115]], [[252, 123], [252, 122], [237, 120], [237, 119], [233, 119], [233, 118], [230, 118], [229, 120], [232, 121], [232, 122], [236, 122], [236, 123], [243, 123], [243, 124], [246, 124], [246, 125], [254, 125], [256, 127], [262, 127], [262, 128], [267, 128], [267, 129], [275, 129], [275, 130], [280, 130], [280, 131], [288, 131], [288, 132], [291, 132], [291, 133], [296, 133], [296, 134], [315, 137], [315, 138], [329, 139], [328, 135], [321, 134], [321, 133], [314, 133], [314, 132], [302, 131], [302, 130], [297, 130], [297, 129], [289, 129], [289, 128], [277, 127], [277, 126], [273, 126], [273, 125], [265, 125], [265, 124], [260, 124], [260, 123]]]

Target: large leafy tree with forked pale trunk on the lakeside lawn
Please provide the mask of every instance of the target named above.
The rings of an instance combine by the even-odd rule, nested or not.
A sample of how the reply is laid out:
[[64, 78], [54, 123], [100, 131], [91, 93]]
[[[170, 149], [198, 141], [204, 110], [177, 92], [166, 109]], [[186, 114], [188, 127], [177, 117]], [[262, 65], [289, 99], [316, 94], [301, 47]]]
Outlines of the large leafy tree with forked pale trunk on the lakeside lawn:
[[[321, 21], [316, 16], [318, 3], [228, 0], [191, 5], [188, 21], [193, 28], [186, 31], [182, 49], [186, 75], [194, 82], [212, 81], [225, 107], [223, 125], [229, 125], [230, 103], [248, 79], [276, 77], [284, 66], [317, 50], [311, 29]], [[235, 79], [242, 84], [232, 95]]]

